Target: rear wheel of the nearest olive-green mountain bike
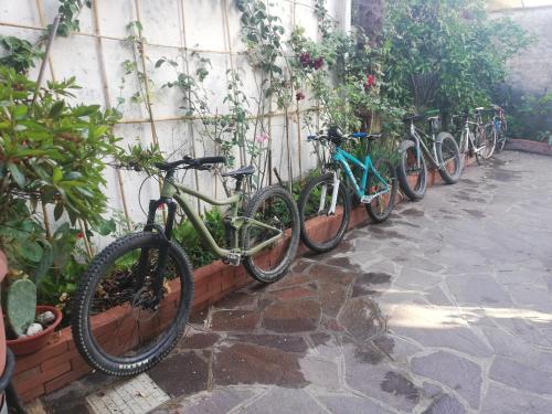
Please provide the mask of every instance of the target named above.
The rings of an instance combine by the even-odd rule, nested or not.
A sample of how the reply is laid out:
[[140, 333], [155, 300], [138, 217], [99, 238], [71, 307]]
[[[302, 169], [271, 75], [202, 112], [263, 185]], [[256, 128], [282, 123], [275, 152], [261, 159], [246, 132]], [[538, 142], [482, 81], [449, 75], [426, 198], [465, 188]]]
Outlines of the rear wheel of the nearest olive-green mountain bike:
[[265, 187], [250, 201], [244, 216], [269, 226], [248, 224], [243, 233], [246, 250], [274, 238], [266, 247], [244, 258], [245, 268], [262, 283], [280, 279], [288, 272], [299, 245], [299, 212], [291, 194], [279, 185]]

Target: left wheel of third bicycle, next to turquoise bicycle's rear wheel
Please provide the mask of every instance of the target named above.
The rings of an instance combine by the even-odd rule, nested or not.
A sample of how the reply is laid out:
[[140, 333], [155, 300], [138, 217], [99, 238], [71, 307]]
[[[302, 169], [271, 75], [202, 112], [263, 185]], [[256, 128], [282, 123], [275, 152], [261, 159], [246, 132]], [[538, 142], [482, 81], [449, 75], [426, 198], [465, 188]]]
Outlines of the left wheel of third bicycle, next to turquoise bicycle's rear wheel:
[[[427, 167], [424, 155], [417, 153], [416, 144], [404, 141], [406, 148], [401, 153], [401, 161], [396, 169], [396, 176], [404, 194], [412, 201], [423, 199], [427, 188]], [[420, 157], [420, 162], [418, 162]]]

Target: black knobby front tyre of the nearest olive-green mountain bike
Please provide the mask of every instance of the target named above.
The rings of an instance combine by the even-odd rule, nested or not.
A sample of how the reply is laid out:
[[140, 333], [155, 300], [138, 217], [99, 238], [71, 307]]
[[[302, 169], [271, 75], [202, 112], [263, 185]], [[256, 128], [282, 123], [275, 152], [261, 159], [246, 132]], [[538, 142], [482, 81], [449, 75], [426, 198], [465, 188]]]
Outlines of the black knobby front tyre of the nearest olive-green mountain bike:
[[[117, 257], [123, 257], [128, 252], [131, 252], [132, 248], [148, 248], [149, 251], [161, 246], [162, 243], [163, 237], [152, 232], [135, 233], [120, 237], [105, 247], [92, 261], [88, 269], [83, 275], [73, 298], [71, 329], [78, 352], [84, 360], [96, 370], [117, 376], [138, 374], [162, 361], [180, 338], [188, 321], [193, 298], [193, 270], [185, 253], [173, 242], [169, 242], [168, 258], [174, 261], [173, 263], [179, 270], [181, 283], [180, 301], [171, 325], [166, 332], [159, 333], [159, 337], [162, 338], [161, 341], [157, 343], [155, 348], [148, 350], [147, 353], [119, 358], [107, 354], [106, 350], [98, 346], [96, 338], [93, 337], [91, 332], [88, 312], [96, 293], [96, 287], [104, 276], [104, 273], [108, 272], [109, 266], [115, 263]], [[135, 296], [136, 295], [135, 293]], [[159, 311], [159, 309], [157, 309], [157, 311]], [[166, 315], [163, 315], [163, 317], [166, 317]], [[117, 322], [117, 325], [118, 323], [123, 323], [123, 321]], [[141, 323], [141, 320], [138, 323]], [[110, 333], [113, 338], [117, 337], [115, 332]], [[131, 333], [134, 333], [134, 331]], [[139, 340], [141, 340], [139, 329], [138, 337]]]

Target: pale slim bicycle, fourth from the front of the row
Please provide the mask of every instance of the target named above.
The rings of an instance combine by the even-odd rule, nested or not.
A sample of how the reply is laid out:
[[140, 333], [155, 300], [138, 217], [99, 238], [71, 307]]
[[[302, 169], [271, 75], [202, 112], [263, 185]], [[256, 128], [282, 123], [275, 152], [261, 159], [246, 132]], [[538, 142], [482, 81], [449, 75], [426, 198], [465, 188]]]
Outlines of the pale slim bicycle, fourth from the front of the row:
[[[484, 124], [482, 113], [485, 108], [476, 108], [473, 114], [465, 113], [460, 115], [453, 115], [452, 120], [455, 118], [463, 118], [463, 127], [459, 137], [459, 150], [464, 155], [463, 162], [467, 156], [475, 156], [478, 164], [484, 160], [489, 159], [495, 151], [496, 134], [492, 121]], [[470, 116], [475, 120], [470, 120]], [[474, 128], [475, 131], [471, 129]]]

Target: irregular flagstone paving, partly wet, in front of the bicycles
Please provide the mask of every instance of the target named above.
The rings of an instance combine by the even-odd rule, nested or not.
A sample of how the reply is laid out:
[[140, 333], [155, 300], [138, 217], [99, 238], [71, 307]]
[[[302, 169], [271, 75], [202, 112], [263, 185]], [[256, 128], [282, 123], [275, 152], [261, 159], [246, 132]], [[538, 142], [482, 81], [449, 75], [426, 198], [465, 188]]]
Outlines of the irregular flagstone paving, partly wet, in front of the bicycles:
[[155, 412], [551, 413], [551, 172], [500, 155], [195, 315], [148, 373], [171, 397]]

